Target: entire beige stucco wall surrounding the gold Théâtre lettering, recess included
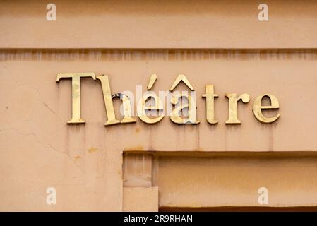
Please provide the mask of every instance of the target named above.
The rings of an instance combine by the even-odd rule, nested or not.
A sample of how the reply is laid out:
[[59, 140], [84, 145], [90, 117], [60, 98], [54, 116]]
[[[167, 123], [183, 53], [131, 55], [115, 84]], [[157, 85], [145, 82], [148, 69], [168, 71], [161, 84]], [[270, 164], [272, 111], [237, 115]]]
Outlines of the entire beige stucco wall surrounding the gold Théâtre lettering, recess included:
[[[150, 210], [157, 210], [155, 203], [164, 207], [255, 206], [258, 186], [272, 188], [270, 206], [316, 206], [317, 54], [313, 50], [313, 13], [317, 7], [314, 1], [269, 4], [272, 17], [268, 23], [260, 23], [253, 1], [201, 1], [195, 6], [167, 1], [139, 1], [133, 6], [128, 1], [57, 1], [57, 21], [48, 22], [44, 2], [28, 6], [1, 2], [0, 210], [131, 210], [136, 204], [133, 194], [151, 198]], [[28, 15], [25, 7], [31, 8]], [[236, 13], [232, 14], [233, 9]], [[233, 50], [220, 50], [224, 47]], [[158, 124], [148, 125], [135, 117], [136, 124], [105, 127], [100, 83], [84, 78], [81, 114], [86, 124], [67, 125], [71, 118], [71, 81], [56, 83], [56, 75], [88, 71], [107, 74], [112, 93], [135, 93], [136, 85], [145, 90], [152, 73], [158, 76], [152, 90], [169, 90], [177, 75], [184, 73], [197, 91], [201, 124], [177, 126], [165, 117]], [[201, 95], [207, 84], [215, 85], [219, 95], [215, 102], [217, 125], [205, 121]], [[180, 85], [177, 89], [185, 88]], [[241, 125], [225, 125], [225, 93], [251, 96], [248, 104], [238, 105]], [[253, 116], [253, 100], [263, 93], [272, 93], [280, 102], [281, 117], [273, 124], [261, 124]], [[170, 153], [156, 162], [136, 162], [152, 169], [152, 174], [144, 171], [151, 174], [150, 185], [141, 185], [157, 190], [140, 194], [144, 189], [133, 193], [133, 189], [125, 188], [124, 193], [124, 187], [140, 186], [123, 179], [123, 152], [134, 150]], [[191, 156], [184, 159], [179, 151]], [[196, 160], [192, 152], [203, 153], [202, 160]], [[222, 162], [205, 155], [214, 152], [221, 153]], [[248, 160], [239, 158], [241, 152], [287, 155], [278, 161], [268, 155]], [[289, 156], [292, 160], [285, 160]], [[190, 175], [179, 170], [185, 167], [191, 170]], [[246, 184], [230, 179], [237, 179], [240, 170]], [[206, 184], [205, 175], [220, 178], [220, 182], [210, 179]], [[285, 177], [280, 186], [273, 186]], [[56, 205], [45, 201], [50, 186], [57, 191]], [[153, 198], [156, 191], [157, 202]], [[191, 196], [193, 191], [201, 196]], [[229, 198], [224, 191], [231, 194]], [[283, 192], [285, 196], [281, 196]], [[293, 194], [297, 198], [289, 199]]]

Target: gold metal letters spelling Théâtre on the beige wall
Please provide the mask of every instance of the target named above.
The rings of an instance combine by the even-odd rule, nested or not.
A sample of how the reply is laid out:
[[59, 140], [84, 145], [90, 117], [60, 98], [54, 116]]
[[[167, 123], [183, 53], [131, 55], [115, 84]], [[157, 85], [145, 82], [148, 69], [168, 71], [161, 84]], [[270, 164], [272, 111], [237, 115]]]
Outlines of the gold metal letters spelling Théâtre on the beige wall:
[[[102, 94], [104, 97], [104, 107], [107, 114], [107, 122], [105, 126], [110, 126], [114, 124], [128, 124], [136, 122], [133, 117], [132, 109], [133, 104], [131, 98], [124, 93], [112, 94], [109, 84], [109, 78], [107, 75], [95, 76], [95, 73], [65, 73], [58, 74], [56, 82], [62, 78], [69, 78], [72, 80], [72, 117], [71, 120], [67, 121], [68, 124], [84, 124], [85, 120], [80, 118], [80, 78], [92, 78], [95, 81], [100, 81], [102, 86]], [[157, 81], [157, 75], [152, 74], [148, 83], [148, 91], [142, 93], [139, 100], [136, 101], [136, 113], [139, 119], [146, 124], [156, 124], [161, 121], [165, 116], [169, 116], [170, 120], [175, 124], [199, 124], [200, 121], [196, 118], [196, 91], [194, 91], [193, 85], [183, 74], [180, 74], [172, 83], [169, 91], [164, 91], [167, 98], [167, 106], [170, 106], [170, 111], [168, 114], [162, 114], [164, 112], [164, 100], [165, 97], [162, 95], [157, 95], [155, 92], [150, 91], [152, 85]], [[174, 90], [179, 83], [184, 83], [190, 91], [179, 92]], [[215, 98], [218, 97], [214, 92], [213, 85], [205, 85], [205, 94], [202, 95], [205, 98], [205, 109], [206, 109], [206, 120], [209, 124], [217, 124], [218, 121], [215, 119]], [[225, 94], [228, 100], [228, 113], [229, 119], [225, 121], [225, 124], [241, 124], [238, 119], [237, 105], [239, 102], [244, 104], [248, 103], [250, 96], [247, 93], [238, 95], [237, 93], [227, 93]], [[262, 105], [263, 98], [266, 97], [270, 100], [269, 105]], [[114, 112], [114, 98], [120, 98], [122, 100], [121, 106], [123, 109], [122, 119], [119, 120]], [[186, 100], [184, 102], [183, 100]], [[241, 101], [240, 101], [241, 100]], [[149, 105], [148, 103], [152, 103]], [[269, 93], [261, 94], [256, 97], [253, 101], [253, 114], [258, 121], [264, 124], [270, 124], [276, 121], [280, 114], [275, 114], [273, 117], [265, 117], [263, 111], [266, 109], [279, 109], [279, 102], [274, 95]], [[155, 114], [153, 114], [153, 112]], [[187, 114], [185, 115], [184, 112]]]

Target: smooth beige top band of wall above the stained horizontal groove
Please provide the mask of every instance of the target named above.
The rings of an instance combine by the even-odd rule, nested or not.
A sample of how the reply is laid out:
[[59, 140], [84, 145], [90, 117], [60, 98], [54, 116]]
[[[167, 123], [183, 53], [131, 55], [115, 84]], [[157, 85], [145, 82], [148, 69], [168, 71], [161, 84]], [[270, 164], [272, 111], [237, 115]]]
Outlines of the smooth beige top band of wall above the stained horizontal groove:
[[[316, 1], [1, 1], [3, 48], [316, 48]], [[258, 5], [269, 21], [258, 21]], [[33, 29], [40, 28], [40, 29]], [[234, 38], [232, 38], [234, 37]]]

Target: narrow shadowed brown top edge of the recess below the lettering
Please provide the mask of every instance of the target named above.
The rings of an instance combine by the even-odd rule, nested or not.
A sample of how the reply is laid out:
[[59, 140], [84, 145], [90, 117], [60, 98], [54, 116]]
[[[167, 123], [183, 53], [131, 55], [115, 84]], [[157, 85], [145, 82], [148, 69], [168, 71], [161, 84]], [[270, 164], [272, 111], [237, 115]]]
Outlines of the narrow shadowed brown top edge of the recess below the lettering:
[[265, 157], [265, 158], [307, 158], [317, 157], [317, 151], [154, 151], [154, 150], [124, 150], [123, 155], [148, 154], [154, 157]]

